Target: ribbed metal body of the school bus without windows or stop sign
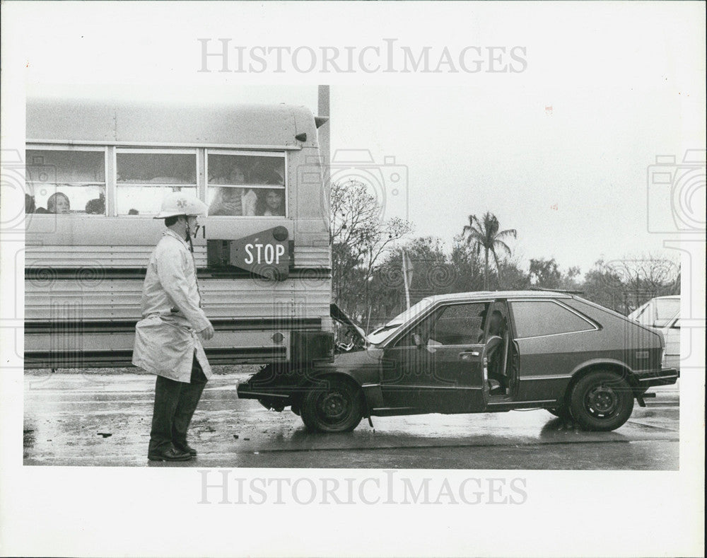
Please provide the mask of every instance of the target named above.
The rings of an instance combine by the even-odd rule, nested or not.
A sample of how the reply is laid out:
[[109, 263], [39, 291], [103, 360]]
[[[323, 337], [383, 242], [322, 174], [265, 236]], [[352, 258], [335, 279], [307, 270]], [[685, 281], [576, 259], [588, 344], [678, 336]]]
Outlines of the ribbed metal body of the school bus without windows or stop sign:
[[[40, 175], [42, 158], [51, 161], [59, 152], [60, 162], [63, 153], [70, 161], [71, 153], [79, 153], [76, 160], [105, 160], [91, 182], [104, 189], [105, 209], [104, 214], [87, 214], [72, 206], [70, 215], [26, 216], [25, 367], [129, 365], [135, 323], [141, 319], [146, 266], [164, 231], [163, 221], [148, 214], [158, 207], [136, 215], [119, 214], [117, 194], [131, 185], [118, 178], [117, 161], [134, 153], [186, 154], [195, 163], [193, 183], [178, 187], [190, 188], [207, 203], [211, 188], [223, 183], [209, 178], [211, 158], [235, 154], [253, 156], [255, 161], [271, 153], [284, 161], [284, 185], [279, 186], [285, 196], [284, 216], [200, 219], [201, 231], [193, 239], [194, 262], [202, 306], [216, 330], [204, 348], [214, 364], [281, 363], [294, 358], [301, 366], [303, 359], [333, 359], [329, 192], [322, 180], [315, 120], [308, 110], [286, 105], [214, 108], [30, 101], [27, 136], [30, 194], [81, 187], [86, 169], [67, 170], [66, 164], [56, 175], [71, 175], [70, 184], [59, 178], [46, 184], [33, 178], [30, 183], [30, 175]], [[51, 175], [51, 165], [45, 166]], [[145, 186], [170, 191], [170, 185]], [[264, 192], [267, 186], [252, 188]], [[276, 228], [284, 228], [284, 245], [289, 246], [283, 277], [262, 277], [232, 262], [209, 259], [216, 244], [228, 246]]]

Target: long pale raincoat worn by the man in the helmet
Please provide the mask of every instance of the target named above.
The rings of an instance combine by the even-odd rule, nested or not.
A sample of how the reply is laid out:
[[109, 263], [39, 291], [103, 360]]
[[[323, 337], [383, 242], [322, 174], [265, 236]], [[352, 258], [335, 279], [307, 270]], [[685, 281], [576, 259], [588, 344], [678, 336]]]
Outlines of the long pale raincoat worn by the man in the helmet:
[[141, 311], [143, 319], [135, 328], [132, 364], [189, 383], [196, 351], [206, 378], [213, 376], [197, 336], [197, 331], [210, 322], [201, 310], [194, 258], [186, 241], [173, 231], [165, 231], [152, 252]]

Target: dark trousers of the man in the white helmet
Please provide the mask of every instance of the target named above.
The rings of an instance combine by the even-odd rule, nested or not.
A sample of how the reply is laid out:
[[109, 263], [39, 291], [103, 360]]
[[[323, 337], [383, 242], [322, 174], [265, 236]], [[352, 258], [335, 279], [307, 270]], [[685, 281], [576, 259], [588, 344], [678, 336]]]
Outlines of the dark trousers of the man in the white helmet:
[[190, 383], [157, 376], [148, 453], [160, 453], [171, 444], [179, 448], [187, 443], [187, 429], [205, 385], [206, 376], [196, 355]]

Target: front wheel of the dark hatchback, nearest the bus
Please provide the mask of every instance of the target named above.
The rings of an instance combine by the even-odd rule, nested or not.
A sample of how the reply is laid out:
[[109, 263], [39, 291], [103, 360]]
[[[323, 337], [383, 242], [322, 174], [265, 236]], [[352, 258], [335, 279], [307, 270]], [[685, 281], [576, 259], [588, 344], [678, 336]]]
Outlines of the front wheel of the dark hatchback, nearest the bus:
[[302, 420], [315, 432], [349, 432], [363, 418], [361, 390], [340, 378], [325, 378], [322, 387], [312, 386], [300, 409]]

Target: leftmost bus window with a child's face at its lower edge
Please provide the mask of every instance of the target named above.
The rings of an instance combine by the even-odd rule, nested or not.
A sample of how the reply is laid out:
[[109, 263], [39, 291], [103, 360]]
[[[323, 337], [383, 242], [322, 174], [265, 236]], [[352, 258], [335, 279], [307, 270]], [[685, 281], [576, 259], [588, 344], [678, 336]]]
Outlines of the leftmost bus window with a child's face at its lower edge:
[[33, 213], [105, 215], [103, 149], [28, 149], [25, 155], [25, 207]]

